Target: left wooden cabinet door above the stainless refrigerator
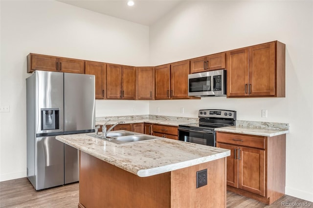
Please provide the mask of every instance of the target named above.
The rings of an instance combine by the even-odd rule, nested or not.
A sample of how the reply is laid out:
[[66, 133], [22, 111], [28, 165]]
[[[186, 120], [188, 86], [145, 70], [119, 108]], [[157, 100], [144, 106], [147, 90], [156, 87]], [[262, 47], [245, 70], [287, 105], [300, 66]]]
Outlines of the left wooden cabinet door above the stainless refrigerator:
[[59, 71], [59, 58], [53, 56], [30, 54], [31, 69], [27, 72], [34, 70], [43, 71]]

